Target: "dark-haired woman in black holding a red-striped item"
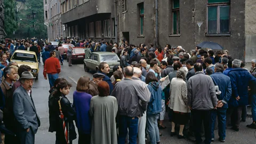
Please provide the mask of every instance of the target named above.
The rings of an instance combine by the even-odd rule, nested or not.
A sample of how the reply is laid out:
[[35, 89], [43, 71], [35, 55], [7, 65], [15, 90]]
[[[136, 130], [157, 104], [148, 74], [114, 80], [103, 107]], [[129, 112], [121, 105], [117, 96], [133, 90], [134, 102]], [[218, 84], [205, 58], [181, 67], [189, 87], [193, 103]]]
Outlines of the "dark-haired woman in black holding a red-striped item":
[[57, 91], [53, 93], [55, 102], [55, 117], [56, 121], [56, 143], [57, 144], [72, 144], [76, 139], [76, 131], [74, 120], [76, 119], [76, 112], [66, 97], [69, 94], [69, 89], [72, 85], [68, 81], [61, 81], [57, 86]]

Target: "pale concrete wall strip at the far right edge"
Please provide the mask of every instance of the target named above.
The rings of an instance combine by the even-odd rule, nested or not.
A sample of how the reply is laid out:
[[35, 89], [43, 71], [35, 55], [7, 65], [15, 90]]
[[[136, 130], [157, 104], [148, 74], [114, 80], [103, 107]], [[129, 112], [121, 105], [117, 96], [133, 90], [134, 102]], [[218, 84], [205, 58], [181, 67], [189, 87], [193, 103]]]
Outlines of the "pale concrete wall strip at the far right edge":
[[245, 1], [245, 62], [256, 59], [256, 1]]

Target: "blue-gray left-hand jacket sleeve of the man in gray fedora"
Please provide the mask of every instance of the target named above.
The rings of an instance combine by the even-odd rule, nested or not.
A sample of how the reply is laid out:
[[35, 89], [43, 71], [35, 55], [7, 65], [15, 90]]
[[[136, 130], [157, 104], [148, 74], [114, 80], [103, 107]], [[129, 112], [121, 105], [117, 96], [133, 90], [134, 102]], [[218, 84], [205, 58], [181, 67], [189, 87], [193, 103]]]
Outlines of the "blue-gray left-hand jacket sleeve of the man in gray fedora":
[[[23, 97], [20, 93], [16, 92], [13, 95], [13, 114], [15, 119], [21, 124], [22, 129], [26, 130], [30, 124], [24, 116]], [[25, 95], [27, 97], [27, 95]]]

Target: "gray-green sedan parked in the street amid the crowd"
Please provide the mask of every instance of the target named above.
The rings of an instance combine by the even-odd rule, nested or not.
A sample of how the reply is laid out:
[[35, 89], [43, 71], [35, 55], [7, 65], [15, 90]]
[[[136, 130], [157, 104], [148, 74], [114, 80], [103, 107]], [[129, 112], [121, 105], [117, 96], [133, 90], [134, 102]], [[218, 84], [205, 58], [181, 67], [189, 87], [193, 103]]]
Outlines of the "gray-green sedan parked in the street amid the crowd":
[[110, 68], [110, 73], [113, 72], [115, 65], [120, 65], [120, 59], [116, 53], [111, 52], [93, 52], [90, 59], [84, 59], [84, 70], [99, 70], [101, 62], [107, 62]]

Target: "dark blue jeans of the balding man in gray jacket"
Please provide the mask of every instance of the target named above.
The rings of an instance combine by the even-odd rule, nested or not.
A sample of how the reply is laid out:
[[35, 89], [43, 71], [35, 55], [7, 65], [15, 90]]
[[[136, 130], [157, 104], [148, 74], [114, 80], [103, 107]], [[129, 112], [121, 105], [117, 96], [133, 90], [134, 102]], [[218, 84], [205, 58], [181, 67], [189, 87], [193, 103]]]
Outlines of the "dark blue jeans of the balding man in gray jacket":
[[137, 142], [138, 122], [138, 117], [119, 116], [118, 144], [125, 143], [127, 128], [129, 129], [129, 144], [135, 144]]

